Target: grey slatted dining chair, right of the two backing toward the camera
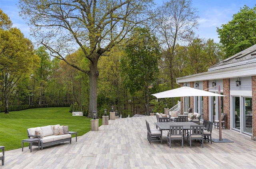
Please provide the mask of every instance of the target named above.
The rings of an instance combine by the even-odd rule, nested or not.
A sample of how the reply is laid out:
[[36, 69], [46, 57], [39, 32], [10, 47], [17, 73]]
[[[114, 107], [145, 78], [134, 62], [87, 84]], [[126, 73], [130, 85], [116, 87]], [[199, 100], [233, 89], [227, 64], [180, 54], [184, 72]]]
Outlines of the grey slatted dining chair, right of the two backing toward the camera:
[[[187, 143], [190, 143], [191, 140], [199, 140], [199, 144], [202, 143], [202, 148], [204, 148], [204, 126], [203, 125], [191, 125], [190, 130], [187, 134]], [[189, 142], [188, 142], [189, 141]]]

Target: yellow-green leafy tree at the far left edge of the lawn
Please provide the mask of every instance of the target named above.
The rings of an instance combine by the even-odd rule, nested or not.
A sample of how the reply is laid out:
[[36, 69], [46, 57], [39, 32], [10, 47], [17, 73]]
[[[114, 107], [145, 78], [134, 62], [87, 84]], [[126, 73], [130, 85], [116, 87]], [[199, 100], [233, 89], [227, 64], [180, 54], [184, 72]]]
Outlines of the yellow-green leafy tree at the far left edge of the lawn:
[[9, 113], [9, 98], [17, 84], [31, 72], [37, 57], [31, 41], [0, 10], [0, 91], [4, 95], [5, 113]]

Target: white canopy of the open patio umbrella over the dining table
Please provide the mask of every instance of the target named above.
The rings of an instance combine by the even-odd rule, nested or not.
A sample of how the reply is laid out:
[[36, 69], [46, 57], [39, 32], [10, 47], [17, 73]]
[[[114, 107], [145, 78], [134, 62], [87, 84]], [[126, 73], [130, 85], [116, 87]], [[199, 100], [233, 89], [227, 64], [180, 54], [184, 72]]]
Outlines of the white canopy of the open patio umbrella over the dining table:
[[199, 89], [191, 88], [188, 86], [167, 90], [167, 91], [155, 93], [152, 95], [155, 96], [156, 98], [187, 97], [187, 96], [225, 96], [222, 94], [207, 92], [204, 90], [199, 90]]

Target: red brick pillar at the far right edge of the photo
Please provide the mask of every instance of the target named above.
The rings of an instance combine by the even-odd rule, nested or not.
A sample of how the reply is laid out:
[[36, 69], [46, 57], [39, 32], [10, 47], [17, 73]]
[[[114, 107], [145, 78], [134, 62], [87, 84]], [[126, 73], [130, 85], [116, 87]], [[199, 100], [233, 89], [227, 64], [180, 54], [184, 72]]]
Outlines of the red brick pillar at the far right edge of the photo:
[[252, 76], [252, 134], [256, 137], [256, 76]]

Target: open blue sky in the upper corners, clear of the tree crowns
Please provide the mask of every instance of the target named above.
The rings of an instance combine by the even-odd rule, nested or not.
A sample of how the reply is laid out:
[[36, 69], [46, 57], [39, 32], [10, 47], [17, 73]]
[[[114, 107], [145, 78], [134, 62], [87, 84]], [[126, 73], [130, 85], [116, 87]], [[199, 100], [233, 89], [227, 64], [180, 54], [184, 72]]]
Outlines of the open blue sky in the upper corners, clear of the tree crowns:
[[[160, 6], [162, 0], [155, 0]], [[29, 28], [22, 18], [18, 15], [18, 0], [0, 0], [0, 8], [12, 20], [13, 26], [19, 28], [25, 37], [30, 37]], [[244, 5], [253, 8], [256, 4], [255, 0], [192, 0], [194, 8], [198, 10], [198, 20], [200, 26], [196, 35], [200, 38], [211, 38], [219, 42], [216, 28], [228, 23], [232, 20], [232, 16], [240, 11]]]

